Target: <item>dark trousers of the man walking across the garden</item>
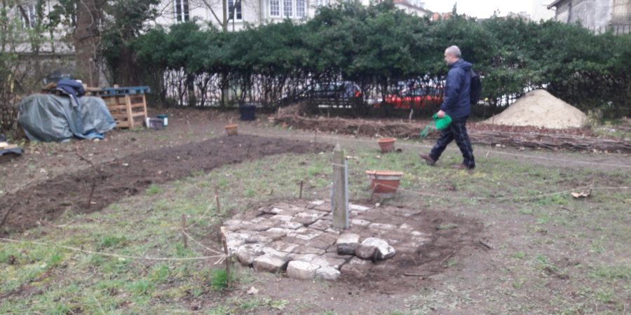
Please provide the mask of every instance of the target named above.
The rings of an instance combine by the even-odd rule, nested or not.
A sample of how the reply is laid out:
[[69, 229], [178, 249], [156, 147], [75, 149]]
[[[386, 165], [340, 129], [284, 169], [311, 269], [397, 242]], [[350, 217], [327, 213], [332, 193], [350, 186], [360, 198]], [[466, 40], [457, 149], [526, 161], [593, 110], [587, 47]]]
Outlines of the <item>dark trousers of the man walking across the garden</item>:
[[437, 161], [445, 151], [447, 145], [456, 140], [456, 144], [460, 148], [462, 153], [463, 165], [469, 168], [475, 167], [475, 160], [473, 158], [473, 148], [471, 147], [471, 141], [469, 141], [469, 135], [467, 134], [467, 118], [454, 118], [452, 123], [444, 130], [440, 130], [440, 138], [436, 141], [435, 146], [430, 152], [430, 158]]

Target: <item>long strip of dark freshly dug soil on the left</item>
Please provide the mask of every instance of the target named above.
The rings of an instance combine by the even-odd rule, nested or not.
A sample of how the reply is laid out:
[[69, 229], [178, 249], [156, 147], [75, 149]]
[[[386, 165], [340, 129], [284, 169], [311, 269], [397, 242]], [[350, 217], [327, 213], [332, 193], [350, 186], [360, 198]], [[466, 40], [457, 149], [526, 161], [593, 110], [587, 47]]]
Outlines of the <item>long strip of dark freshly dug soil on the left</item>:
[[[14, 195], [4, 196], [0, 199], [0, 218], [6, 224], [4, 230], [0, 230], [0, 235], [33, 228], [37, 222], [54, 220], [65, 211], [99, 211], [112, 202], [144, 192], [152, 183], [181, 179], [192, 172], [257, 160], [266, 155], [311, 153], [327, 149], [328, 146], [324, 144], [304, 141], [224, 136], [128, 155], [95, 165], [86, 171], [63, 174], [19, 190]], [[88, 204], [90, 194], [92, 204]]]

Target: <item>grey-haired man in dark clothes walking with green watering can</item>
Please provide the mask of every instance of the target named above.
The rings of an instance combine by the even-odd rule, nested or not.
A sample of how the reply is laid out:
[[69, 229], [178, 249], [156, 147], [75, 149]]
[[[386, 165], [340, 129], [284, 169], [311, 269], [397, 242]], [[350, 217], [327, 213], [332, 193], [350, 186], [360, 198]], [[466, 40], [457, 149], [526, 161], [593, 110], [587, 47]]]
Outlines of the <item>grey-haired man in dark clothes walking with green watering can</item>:
[[458, 46], [450, 46], [445, 50], [445, 62], [449, 66], [449, 72], [445, 84], [445, 97], [437, 116], [442, 118], [447, 114], [452, 118], [452, 123], [445, 130], [440, 131], [440, 138], [430, 154], [420, 154], [420, 156], [428, 165], [435, 165], [447, 145], [452, 140], [456, 140], [463, 161], [462, 164], [454, 165], [454, 167], [473, 169], [475, 167], [473, 148], [471, 148], [465, 126], [471, 113], [471, 64], [460, 58]]

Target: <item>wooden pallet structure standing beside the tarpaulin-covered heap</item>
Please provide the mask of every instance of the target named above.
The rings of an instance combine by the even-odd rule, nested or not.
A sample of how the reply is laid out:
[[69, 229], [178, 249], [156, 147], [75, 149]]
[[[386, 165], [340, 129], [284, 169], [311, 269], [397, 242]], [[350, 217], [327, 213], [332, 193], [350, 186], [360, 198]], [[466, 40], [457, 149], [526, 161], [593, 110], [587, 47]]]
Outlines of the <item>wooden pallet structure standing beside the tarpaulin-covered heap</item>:
[[147, 100], [144, 94], [101, 95], [116, 120], [116, 128], [133, 128], [142, 126], [147, 120]]

